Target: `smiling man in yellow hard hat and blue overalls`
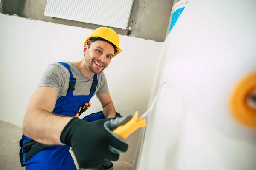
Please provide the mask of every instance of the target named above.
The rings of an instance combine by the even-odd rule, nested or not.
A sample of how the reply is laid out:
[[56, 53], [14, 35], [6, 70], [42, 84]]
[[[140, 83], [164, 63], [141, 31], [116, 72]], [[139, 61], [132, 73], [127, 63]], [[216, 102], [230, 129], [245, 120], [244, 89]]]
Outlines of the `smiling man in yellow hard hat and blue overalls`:
[[[26, 170], [76, 170], [70, 147], [79, 168], [113, 169], [111, 161], [118, 160], [128, 144], [112, 130], [132, 115], [116, 117], [102, 71], [121, 51], [116, 32], [100, 27], [85, 40], [83, 60], [47, 67], [23, 120], [20, 161]], [[76, 117], [94, 95], [103, 111]]]

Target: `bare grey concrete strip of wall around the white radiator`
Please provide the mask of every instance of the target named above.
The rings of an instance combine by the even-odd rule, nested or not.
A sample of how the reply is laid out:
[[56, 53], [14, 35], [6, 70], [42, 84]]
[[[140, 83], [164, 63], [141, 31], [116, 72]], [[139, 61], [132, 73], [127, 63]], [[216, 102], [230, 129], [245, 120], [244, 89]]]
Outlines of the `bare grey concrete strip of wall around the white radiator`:
[[[99, 25], [44, 16], [47, 0], [3, 0], [8, 14], [18, 14], [35, 20], [96, 29]], [[14, 3], [16, 2], [16, 3]], [[117, 34], [163, 42], [169, 29], [173, 0], [134, 0], [128, 27], [132, 30], [113, 28]], [[11, 7], [11, 8], [10, 8]], [[18, 8], [19, 7], [19, 8]], [[13, 9], [14, 11], [11, 11]], [[18, 12], [17, 12], [18, 11]], [[6, 13], [4, 12], [4, 13]], [[6, 13], [7, 14], [7, 13]]]

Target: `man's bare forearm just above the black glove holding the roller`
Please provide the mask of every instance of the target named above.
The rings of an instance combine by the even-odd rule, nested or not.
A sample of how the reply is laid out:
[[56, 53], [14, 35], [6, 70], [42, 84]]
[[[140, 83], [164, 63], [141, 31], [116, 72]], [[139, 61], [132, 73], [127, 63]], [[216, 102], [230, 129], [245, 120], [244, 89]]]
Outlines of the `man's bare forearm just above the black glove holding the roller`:
[[43, 110], [28, 110], [23, 133], [42, 144], [61, 144], [60, 135], [72, 117], [62, 117]]

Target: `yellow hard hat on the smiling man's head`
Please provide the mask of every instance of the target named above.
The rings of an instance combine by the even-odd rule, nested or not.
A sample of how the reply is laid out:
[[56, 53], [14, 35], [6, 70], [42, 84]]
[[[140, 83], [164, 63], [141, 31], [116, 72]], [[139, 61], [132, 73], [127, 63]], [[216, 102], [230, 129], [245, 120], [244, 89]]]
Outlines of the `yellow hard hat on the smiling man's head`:
[[120, 43], [119, 36], [111, 28], [107, 28], [107, 27], [97, 28], [92, 32], [92, 34], [90, 34], [89, 37], [87, 37], [87, 39], [84, 42], [84, 45], [89, 41], [96, 41], [96, 40], [103, 40], [111, 44], [115, 49], [115, 54], [113, 55], [113, 57], [115, 57], [117, 54], [119, 54], [122, 51], [122, 49], [119, 47], [119, 43]]

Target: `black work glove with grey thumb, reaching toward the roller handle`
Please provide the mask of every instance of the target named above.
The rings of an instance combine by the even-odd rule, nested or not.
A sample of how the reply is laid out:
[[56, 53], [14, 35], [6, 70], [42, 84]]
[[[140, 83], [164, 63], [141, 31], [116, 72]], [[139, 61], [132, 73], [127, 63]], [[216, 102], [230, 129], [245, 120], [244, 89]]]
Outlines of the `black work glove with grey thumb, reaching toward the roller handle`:
[[128, 150], [128, 143], [113, 133], [133, 116], [86, 122], [74, 117], [61, 132], [60, 141], [73, 151], [79, 168], [98, 168], [108, 161], [117, 161]]

